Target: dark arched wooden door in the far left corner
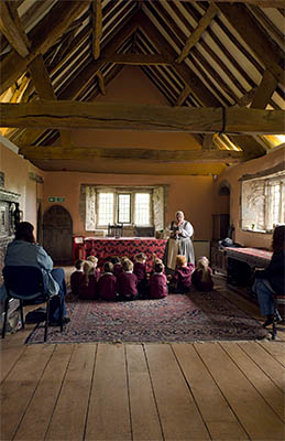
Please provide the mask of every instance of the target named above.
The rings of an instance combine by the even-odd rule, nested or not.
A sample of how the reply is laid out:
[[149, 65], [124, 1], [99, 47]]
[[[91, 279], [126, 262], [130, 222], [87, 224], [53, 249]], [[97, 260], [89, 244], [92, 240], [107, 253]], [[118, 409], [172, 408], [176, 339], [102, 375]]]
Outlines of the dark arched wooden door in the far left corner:
[[73, 262], [73, 219], [61, 205], [44, 214], [43, 246], [55, 263]]

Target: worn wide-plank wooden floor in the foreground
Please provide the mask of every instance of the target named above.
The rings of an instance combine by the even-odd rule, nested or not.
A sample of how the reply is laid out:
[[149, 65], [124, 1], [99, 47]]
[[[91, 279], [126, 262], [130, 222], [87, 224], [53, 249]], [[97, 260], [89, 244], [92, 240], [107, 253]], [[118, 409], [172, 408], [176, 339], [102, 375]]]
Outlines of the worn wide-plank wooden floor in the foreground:
[[26, 346], [29, 332], [1, 342], [1, 441], [285, 438], [284, 333], [276, 342]]

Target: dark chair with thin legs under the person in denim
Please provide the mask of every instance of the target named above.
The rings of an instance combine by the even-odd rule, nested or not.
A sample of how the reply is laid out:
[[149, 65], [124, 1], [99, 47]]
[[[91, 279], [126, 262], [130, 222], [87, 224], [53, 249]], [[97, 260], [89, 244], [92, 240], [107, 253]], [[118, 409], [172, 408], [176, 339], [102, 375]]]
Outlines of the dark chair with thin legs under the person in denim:
[[3, 268], [4, 286], [7, 290], [7, 299], [4, 302], [2, 338], [6, 336], [7, 316], [9, 310], [9, 301], [11, 299], [20, 300], [20, 313], [22, 326], [24, 329], [23, 306], [26, 304], [46, 303], [45, 308], [45, 331], [44, 342], [47, 338], [50, 301], [56, 297], [59, 306], [59, 327], [63, 332], [63, 308], [61, 294], [51, 294], [44, 287], [43, 273], [40, 268], [28, 266], [7, 266]]

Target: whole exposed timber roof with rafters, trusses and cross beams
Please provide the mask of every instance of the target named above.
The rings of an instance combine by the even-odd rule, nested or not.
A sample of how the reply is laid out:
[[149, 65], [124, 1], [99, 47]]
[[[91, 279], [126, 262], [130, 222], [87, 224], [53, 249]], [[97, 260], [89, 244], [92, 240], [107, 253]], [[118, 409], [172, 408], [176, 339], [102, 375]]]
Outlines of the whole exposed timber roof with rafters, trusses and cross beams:
[[[175, 115], [179, 108], [204, 111], [204, 123], [199, 118], [188, 126], [174, 123], [177, 131], [195, 133], [202, 152], [189, 151], [179, 161], [228, 163], [232, 152], [232, 162], [255, 158], [271, 147], [264, 135], [285, 133], [282, 0], [17, 0], [2, 1], [0, 12], [1, 132], [35, 164], [41, 165], [41, 158], [86, 158], [86, 149], [75, 147], [66, 130], [70, 119], [69, 126], [58, 123], [56, 111], [62, 100], [68, 101], [69, 114], [74, 101], [96, 103], [127, 65], [141, 68]], [[41, 109], [50, 101], [54, 111], [44, 121]], [[28, 109], [36, 112], [34, 119]], [[210, 125], [211, 109], [221, 116], [217, 125], [215, 119]], [[117, 130], [110, 123], [112, 110], [108, 108], [107, 127]], [[117, 110], [124, 115], [123, 107]], [[149, 107], [154, 121], [156, 110]], [[134, 115], [132, 106], [128, 111]], [[230, 115], [235, 115], [233, 125]], [[81, 127], [98, 129], [91, 120], [88, 114], [89, 126]], [[160, 125], [172, 130], [167, 117]], [[147, 130], [139, 114], [136, 121], [128, 119], [128, 128]], [[55, 142], [61, 148], [53, 152]], [[118, 149], [100, 149], [94, 146], [89, 157], [118, 159]], [[140, 154], [163, 158], [152, 150], [131, 150], [134, 160]], [[120, 153], [123, 159], [124, 150]], [[172, 162], [174, 155], [165, 158]]]

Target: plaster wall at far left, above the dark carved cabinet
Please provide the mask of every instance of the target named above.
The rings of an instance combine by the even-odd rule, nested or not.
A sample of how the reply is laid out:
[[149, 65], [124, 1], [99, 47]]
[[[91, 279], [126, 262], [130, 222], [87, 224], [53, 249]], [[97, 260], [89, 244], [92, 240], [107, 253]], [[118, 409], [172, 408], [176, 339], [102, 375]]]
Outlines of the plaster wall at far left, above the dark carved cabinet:
[[20, 208], [23, 211], [23, 220], [31, 222], [36, 234], [36, 182], [29, 178], [35, 173], [44, 179], [45, 172], [31, 162], [14, 153], [0, 142], [0, 170], [4, 172], [4, 187], [10, 192], [21, 194]]

